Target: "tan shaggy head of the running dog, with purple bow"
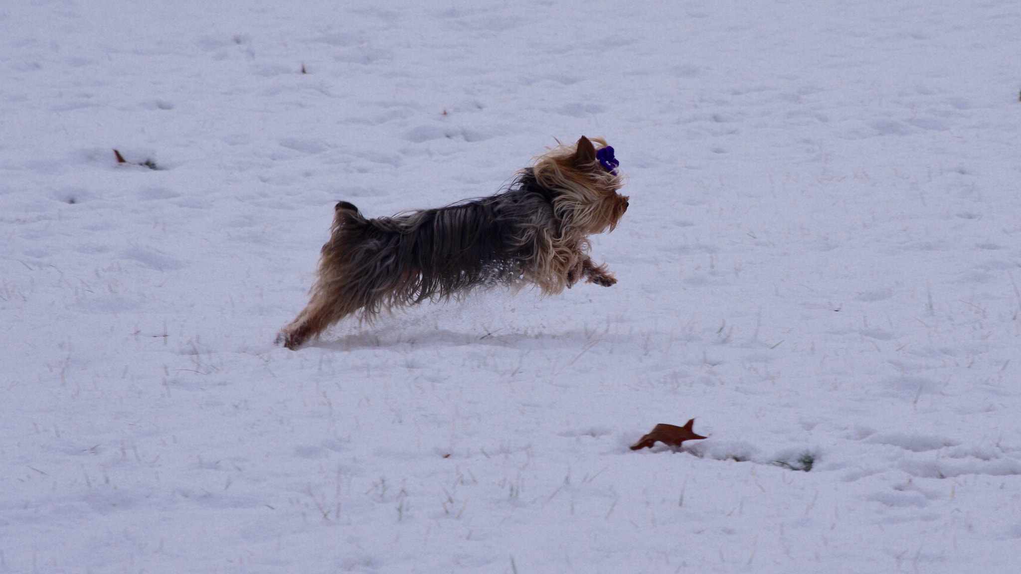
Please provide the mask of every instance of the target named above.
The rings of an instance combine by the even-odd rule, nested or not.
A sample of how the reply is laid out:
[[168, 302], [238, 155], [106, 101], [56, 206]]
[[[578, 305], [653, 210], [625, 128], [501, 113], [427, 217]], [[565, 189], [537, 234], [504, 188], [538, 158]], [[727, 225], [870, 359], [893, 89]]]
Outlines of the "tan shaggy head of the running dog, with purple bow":
[[585, 234], [602, 233], [613, 231], [628, 209], [629, 197], [617, 193], [624, 187], [617, 165], [605, 140], [582, 136], [536, 157], [533, 173], [540, 184], [562, 192], [557, 203], [571, 211], [564, 214], [574, 226]]

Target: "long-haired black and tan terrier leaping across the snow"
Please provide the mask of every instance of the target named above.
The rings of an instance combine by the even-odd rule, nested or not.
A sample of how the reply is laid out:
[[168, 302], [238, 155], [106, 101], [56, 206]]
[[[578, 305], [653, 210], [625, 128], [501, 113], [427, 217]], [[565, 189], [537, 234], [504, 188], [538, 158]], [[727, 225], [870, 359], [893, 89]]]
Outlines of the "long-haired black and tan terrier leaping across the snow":
[[613, 230], [628, 208], [618, 164], [605, 141], [582, 136], [535, 157], [491, 197], [375, 220], [337, 203], [310, 300], [277, 344], [296, 349], [347, 316], [372, 320], [476, 288], [533, 285], [552, 295], [582, 278], [617, 283], [589, 258], [588, 236]]

